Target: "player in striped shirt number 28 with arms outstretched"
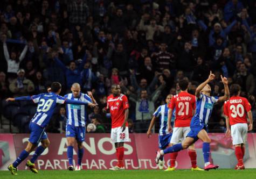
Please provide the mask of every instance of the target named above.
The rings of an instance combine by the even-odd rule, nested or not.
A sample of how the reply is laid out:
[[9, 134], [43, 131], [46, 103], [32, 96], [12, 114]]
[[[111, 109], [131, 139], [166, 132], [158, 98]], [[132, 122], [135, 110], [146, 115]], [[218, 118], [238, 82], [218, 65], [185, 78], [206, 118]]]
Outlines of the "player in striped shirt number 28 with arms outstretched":
[[57, 103], [59, 104], [78, 104], [78, 105], [89, 105], [96, 106], [96, 104], [88, 103], [88, 102], [80, 102], [74, 101], [71, 99], [64, 98], [59, 96], [61, 91], [61, 84], [58, 82], [53, 82], [51, 84], [51, 91], [45, 94], [39, 94], [35, 96], [23, 96], [17, 98], [8, 98], [8, 101], [33, 101], [34, 103], [38, 103], [37, 112], [34, 114], [34, 117], [31, 119], [29, 127], [30, 127], [30, 138], [26, 148], [20, 153], [19, 157], [8, 166], [8, 169], [11, 171], [12, 175], [17, 175], [17, 166], [26, 159], [27, 156], [37, 147], [38, 143], [41, 141], [41, 146], [37, 147], [36, 152], [32, 156], [31, 160], [28, 160], [26, 166], [30, 168], [33, 173], [38, 173], [34, 161], [37, 160], [38, 156], [44, 152], [45, 148], [47, 148], [50, 144], [49, 139], [47, 138], [47, 134], [45, 132], [45, 127], [49, 124], [49, 121], [52, 117], [52, 113]]

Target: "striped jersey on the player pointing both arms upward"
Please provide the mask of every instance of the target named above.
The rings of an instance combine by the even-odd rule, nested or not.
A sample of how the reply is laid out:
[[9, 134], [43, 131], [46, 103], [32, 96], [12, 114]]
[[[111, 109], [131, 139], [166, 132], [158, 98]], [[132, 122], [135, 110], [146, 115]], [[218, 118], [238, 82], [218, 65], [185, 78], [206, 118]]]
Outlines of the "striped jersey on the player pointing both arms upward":
[[196, 114], [194, 118], [198, 118], [200, 120], [200, 124], [207, 125], [212, 113], [213, 105], [217, 103], [218, 100], [219, 97], [217, 96], [206, 96], [200, 94], [196, 99]]

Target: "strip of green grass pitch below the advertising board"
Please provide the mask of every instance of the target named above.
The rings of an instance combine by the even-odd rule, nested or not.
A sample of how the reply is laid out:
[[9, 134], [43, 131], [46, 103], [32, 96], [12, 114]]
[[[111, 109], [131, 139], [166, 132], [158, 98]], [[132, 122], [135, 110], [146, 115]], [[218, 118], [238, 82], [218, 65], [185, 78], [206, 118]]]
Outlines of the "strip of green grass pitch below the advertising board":
[[190, 170], [176, 170], [176, 171], [161, 171], [161, 170], [124, 170], [124, 171], [109, 171], [109, 170], [40, 170], [38, 174], [33, 174], [29, 170], [19, 170], [18, 175], [11, 175], [10, 171], [0, 171], [1, 179], [9, 178], [23, 178], [23, 179], [227, 179], [227, 178], [256, 178], [256, 169], [245, 170], [231, 170], [231, 169], [217, 169], [210, 171], [190, 171]]

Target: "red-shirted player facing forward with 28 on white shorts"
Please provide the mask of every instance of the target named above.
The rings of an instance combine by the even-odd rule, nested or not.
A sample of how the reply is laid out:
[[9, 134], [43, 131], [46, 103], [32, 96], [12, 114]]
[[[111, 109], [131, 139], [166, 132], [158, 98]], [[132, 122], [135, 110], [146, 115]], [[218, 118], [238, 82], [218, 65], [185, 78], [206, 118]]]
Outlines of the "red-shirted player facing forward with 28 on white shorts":
[[112, 95], [107, 98], [107, 107], [103, 112], [110, 112], [112, 119], [111, 140], [115, 143], [117, 166], [110, 170], [123, 170], [124, 142], [129, 141], [128, 113], [129, 104], [126, 95], [120, 93], [120, 85], [113, 84], [111, 87]]

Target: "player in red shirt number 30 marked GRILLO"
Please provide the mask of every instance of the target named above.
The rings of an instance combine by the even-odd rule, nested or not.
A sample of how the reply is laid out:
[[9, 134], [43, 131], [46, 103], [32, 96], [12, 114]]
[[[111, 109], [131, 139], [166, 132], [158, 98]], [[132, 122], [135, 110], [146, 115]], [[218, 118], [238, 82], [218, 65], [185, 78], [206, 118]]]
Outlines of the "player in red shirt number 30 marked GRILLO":
[[[224, 103], [223, 112], [226, 116], [226, 135], [231, 133], [232, 142], [235, 148], [238, 164], [235, 169], [245, 169], [243, 158], [245, 155], [245, 144], [247, 141], [247, 131], [252, 130], [252, 112], [251, 104], [246, 98], [240, 97], [241, 87], [238, 84], [232, 84], [230, 87], [231, 97]], [[247, 126], [247, 118], [250, 124]], [[231, 126], [231, 131], [230, 131]]]

